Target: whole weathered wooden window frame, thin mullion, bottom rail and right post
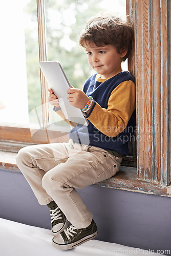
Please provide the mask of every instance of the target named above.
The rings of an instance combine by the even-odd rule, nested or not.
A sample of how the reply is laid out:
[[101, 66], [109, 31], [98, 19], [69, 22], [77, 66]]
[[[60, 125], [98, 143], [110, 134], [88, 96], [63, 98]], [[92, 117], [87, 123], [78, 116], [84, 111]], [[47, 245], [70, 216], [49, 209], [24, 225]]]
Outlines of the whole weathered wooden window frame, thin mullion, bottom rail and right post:
[[[163, 189], [170, 184], [170, 6], [169, 0], [126, 0], [127, 14], [135, 31], [129, 70], [136, 80], [137, 157], [124, 161], [125, 165], [137, 162], [136, 180], [142, 181], [142, 189], [147, 184], [162, 185]], [[45, 61], [43, 0], [37, 0], [37, 13], [39, 55], [40, 61]], [[43, 129], [37, 132], [40, 140], [33, 140], [29, 128], [0, 126], [2, 149], [12, 151], [27, 144], [49, 143], [56, 133], [54, 142], [68, 141], [67, 133], [48, 131], [46, 81], [41, 72], [40, 80], [44, 113]]]

